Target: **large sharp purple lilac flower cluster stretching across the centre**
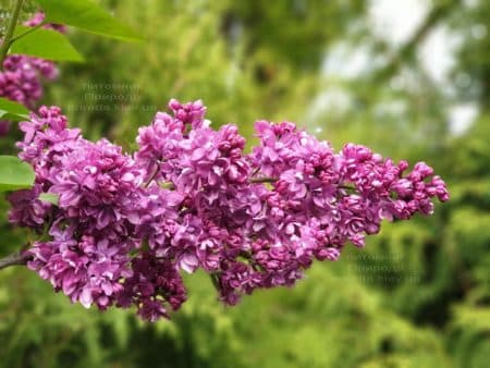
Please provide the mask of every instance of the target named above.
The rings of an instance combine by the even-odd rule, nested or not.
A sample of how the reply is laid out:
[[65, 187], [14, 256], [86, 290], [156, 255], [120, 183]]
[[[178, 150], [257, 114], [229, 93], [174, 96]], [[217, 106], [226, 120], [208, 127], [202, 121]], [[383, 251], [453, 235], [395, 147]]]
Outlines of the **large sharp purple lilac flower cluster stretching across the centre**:
[[[186, 299], [181, 272], [208, 272], [234, 305], [256, 289], [291, 286], [314, 260], [336, 260], [383, 219], [430, 214], [449, 199], [424, 162], [408, 169], [364, 146], [335, 152], [293, 123], [256, 123], [245, 154], [235, 125], [218, 131], [200, 101], [171, 100], [127, 155], [66, 127], [59, 108], [21, 123], [20, 157], [36, 172], [11, 194], [13, 223], [42, 240], [28, 267], [73, 302], [135, 306], [155, 321]], [[42, 200], [41, 194], [59, 198]]]

